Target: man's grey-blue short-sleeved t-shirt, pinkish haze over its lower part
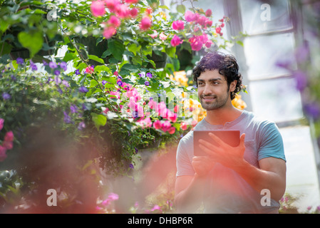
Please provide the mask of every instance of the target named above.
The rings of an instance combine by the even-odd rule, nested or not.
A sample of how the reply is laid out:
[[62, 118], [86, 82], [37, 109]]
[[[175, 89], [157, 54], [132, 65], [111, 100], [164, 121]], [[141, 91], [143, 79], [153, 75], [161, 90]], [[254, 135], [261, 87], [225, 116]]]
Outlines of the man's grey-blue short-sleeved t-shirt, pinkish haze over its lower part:
[[[240, 135], [245, 133], [244, 159], [255, 167], [259, 167], [259, 160], [265, 157], [277, 157], [286, 161], [277, 125], [259, 119], [246, 110], [237, 119], [224, 125], [211, 125], [203, 119], [197, 123], [195, 130], [239, 130]], [[177, 177], [195, 175], [192, 157], [193, 131], [190, 131], [177, 147]], [[271, 199], [270, 206], [263, 206], [261, 199], [264, 195], [254, 190], [237, 172], [220, 163], [216, 163], [210, 171], [205, 190], [205, 213], [269, 213], [279, 209], [279, 202], [274, 199]]]

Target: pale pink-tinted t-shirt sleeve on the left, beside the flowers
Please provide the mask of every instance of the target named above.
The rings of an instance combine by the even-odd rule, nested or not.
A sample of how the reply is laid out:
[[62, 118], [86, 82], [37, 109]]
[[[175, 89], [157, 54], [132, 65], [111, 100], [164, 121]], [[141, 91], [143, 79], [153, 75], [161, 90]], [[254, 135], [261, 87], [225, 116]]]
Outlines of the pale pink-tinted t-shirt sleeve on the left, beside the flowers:
[[[176, 176], [193, 176], [195, 175], [195, 170], [193, 170], [188, 151], [186, 150], [187, 145], [185, 140], [180, 140], [177, 147], [176, 165], [177, 174]], [[189, 146], [189, 150], [192, 150]]]

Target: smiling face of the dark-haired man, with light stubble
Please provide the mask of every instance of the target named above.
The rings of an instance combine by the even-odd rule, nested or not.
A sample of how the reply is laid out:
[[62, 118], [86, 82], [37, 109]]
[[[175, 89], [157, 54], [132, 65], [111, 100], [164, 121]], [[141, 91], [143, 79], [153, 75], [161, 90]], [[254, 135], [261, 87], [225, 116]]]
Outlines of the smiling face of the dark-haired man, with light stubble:
[[197, 78], [197, 84], [202, 108], [215, 110], [226, 105], [229, 99], [227, 80], [218, 70], [206, 70], [201, 73], [200, 77]]

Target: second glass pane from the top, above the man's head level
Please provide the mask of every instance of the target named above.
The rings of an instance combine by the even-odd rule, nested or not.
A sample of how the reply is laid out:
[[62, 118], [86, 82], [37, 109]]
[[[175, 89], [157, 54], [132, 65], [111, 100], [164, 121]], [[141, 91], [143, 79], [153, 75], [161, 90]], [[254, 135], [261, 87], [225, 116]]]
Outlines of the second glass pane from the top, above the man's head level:
[[249, 80], [270, 78], [289, 74], [277, 63], [294, 60], [294, 34], [282, 33], [272, 36], [254, 36], [244, 40]]

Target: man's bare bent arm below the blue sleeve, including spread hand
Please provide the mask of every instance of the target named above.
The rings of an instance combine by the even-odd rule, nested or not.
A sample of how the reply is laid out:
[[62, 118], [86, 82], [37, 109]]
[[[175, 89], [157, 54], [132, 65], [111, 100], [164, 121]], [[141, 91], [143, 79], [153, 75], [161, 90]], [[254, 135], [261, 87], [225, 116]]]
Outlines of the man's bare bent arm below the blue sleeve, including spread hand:
[[217, 136], [210, 135], [220, 147], [205, 140], [200, 140], [200, 147], [215, 162], [220, 162], [222, 165], [238, 172], [257, 192], [268, 189], [271, 192], [272, 199], [279, 200], [282, 198], [286, 188], [286, 163], [284, 160], [276, 157], [266, 157], [259, 160], [260, 168], [257, 168], [244, 160], [245, 134], [241, 135], [238, 147], [231, 147]]

